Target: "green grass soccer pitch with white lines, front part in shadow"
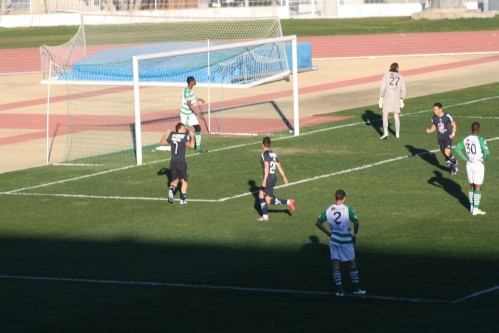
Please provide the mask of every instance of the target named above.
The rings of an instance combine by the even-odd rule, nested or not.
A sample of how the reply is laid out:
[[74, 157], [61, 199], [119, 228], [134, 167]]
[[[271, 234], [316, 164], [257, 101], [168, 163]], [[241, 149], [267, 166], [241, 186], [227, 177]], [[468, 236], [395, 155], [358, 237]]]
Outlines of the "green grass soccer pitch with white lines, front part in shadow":
[[[140, 167], [0, 174], [1, 331], [495, 332], [498, 91], [408, 99], [398, 140], [379, 140], [375, 105], [299, 137], [274, 135], [290, 181], [276, 194], [297, 210], [271, 206], [267, 223], [256, 220], [253, 192], [261, 138], [206, 137], [210, 152], [188, 156], [186, 206], [166, 201], [162, 152], [147, 152]], [[437, 100], [459, 140], [482, 124], [485, 216], [468, 212], [465, 164], [450, 177], [425, 133]], [[315, 220], [338, 188], [360, 219], [367, 297], [333, 296]]]

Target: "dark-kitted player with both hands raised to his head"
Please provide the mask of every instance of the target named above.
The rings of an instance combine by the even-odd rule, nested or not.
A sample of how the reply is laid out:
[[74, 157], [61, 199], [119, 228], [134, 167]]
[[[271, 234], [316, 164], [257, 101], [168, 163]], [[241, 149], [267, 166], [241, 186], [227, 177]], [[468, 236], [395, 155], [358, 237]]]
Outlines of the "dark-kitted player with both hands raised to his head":
[[184, 124], [178, 123], [175, 126], [175, 132], [167, 131], [163, 135], [160, 145], [171, 146], [170, 171], [172, 173], [172, 180], [168, 191], [168, 202], [173, 203], [178, 183], [182, 181], [180, 204], [185, 205], [187, 203], [187, 181], [189, 179], [189, 170], [185, 161], [185, 149], [186, 147], [194, 149], [194, 136], [192, 132], [187, 131]]

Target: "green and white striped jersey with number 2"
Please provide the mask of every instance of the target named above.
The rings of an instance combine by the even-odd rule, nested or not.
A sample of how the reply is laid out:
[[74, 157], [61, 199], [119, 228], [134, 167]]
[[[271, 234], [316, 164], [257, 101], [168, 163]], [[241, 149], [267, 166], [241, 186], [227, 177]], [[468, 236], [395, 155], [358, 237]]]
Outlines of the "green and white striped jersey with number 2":
[[342, 246], [353, 243], [350, 222], [358, 219], [352, 207], [344, 204], [331, 205], [322, 211], [319, 220], [322, 223], [327, 221], [329, 229], [331, 229], [331, 242], [333, 244]]

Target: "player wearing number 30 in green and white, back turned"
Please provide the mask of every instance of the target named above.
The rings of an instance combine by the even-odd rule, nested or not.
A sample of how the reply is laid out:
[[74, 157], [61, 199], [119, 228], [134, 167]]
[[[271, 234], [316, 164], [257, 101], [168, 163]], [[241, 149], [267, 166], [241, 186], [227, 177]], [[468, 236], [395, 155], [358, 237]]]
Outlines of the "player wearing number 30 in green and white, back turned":
[[[468, 191], [470, 212], [473, 215], [485, 215], [485, 212], [480, 210], [478, 206], [482, 198], [485, 163], [489, 159], [490, 152], [487, 142], [480, 137], [480, 124], [478, 122], [471, 124], [471, 133], [457, 144], [455, 150], [459, 157], [466, 161], [466, 173], [470, 183]], [[463, 149], [466, 155], [463, 153]]]

